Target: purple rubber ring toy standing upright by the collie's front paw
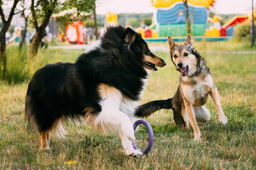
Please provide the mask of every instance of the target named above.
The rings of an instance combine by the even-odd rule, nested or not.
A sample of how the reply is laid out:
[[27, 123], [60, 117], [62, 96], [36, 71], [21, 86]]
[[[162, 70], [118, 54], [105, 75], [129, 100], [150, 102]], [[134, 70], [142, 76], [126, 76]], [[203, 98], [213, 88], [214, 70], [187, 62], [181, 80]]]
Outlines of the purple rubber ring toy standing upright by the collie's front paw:
[[[152, 130], [152, 127], [150, 126], [150, 124], [143, 119], [140, 119], [140, 120], [137, 120], [136, 122], [134, 122], [134, 131], [136, 130], [136, 127], [140, 124], [145, 125], [145, 127], [148, 130], [148, 146], [146, 147], [145, 150], [141, 151], [145, 155], [151, 150], [151, 147], [153, 146], [154, 135], [153, 135], [153, 130]], [[136, 149], [136, 150], [138, 149], [135, 142], [133, 142], [132, 146], [134, 147], [134, 149]]]

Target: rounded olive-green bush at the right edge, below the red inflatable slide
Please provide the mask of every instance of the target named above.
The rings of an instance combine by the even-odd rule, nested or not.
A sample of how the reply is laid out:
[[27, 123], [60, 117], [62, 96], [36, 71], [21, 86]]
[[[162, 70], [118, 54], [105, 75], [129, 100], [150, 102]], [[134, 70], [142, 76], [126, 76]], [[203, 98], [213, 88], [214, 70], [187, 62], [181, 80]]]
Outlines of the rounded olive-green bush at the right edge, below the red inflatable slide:
[[240, 24], [235, 29], [235, 35], [234, 35], [235, 40], [240, 42], [250, 41], [250, 30], [251, 30], [251, 23]]

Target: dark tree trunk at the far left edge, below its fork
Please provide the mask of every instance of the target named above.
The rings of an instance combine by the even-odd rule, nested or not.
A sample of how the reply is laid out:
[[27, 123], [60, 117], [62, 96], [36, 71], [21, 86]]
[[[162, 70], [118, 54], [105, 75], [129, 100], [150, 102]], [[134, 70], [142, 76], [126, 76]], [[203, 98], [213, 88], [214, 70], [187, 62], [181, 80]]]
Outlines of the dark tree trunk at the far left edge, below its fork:
[[6, 32], [1, 31], [0, 33], [0, 70], [3, 73], [1, 76], [2, 79], [5, 78], [6, 75]]

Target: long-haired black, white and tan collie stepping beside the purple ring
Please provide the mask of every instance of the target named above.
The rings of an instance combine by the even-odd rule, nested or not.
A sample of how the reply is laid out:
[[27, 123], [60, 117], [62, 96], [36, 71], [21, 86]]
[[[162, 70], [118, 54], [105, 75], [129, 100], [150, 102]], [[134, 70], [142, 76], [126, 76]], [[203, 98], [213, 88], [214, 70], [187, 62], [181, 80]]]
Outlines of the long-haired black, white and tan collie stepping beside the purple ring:
[[141, 34], [123, 26], [109, 27], [98, 44], [75, 63], [48, 64], [29, 82], [25, 118], [49, 148], [50, 133], [64, 135], [62, 122], [86, 120], [102, 134], [119, 133], [129, 156], [134, 150], [135, 110], [148, 79], [166, 62], [148, 48]]

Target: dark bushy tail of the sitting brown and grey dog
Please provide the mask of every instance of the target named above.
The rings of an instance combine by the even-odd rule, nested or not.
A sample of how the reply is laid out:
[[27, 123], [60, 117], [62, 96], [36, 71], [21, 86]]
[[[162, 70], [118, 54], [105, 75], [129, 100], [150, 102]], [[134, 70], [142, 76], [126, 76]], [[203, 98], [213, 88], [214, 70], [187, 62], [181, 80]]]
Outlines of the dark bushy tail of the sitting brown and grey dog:
[[147, 117], [160, 109], [170, 109], [170, 108], [172, 108], [172, 98], [166, 99], [166, 100], [155, 100], [155, 101], [145, 103], [144, 105], [140, 105], [135, 112], [135, 116]]

